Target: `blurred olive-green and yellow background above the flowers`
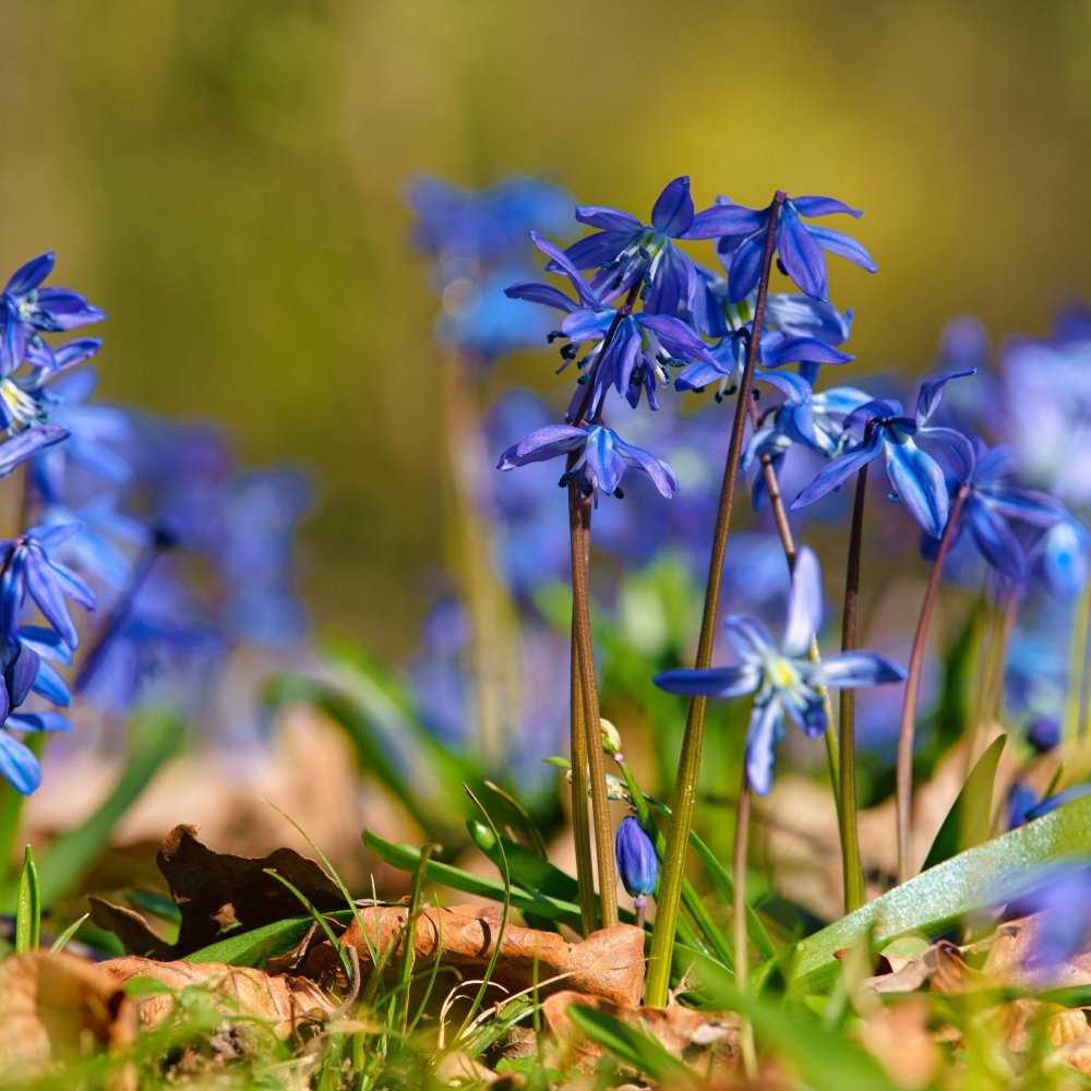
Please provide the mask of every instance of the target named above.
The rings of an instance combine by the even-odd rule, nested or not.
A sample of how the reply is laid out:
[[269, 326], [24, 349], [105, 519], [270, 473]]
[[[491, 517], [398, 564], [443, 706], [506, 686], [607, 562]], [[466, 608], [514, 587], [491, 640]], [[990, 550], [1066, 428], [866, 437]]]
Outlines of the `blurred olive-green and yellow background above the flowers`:
[[0, 0], [0, 271], [58, 251], [107, 397], [310, 464], [319, 627], [398, 655], [442, 541], [413, 175], [834, 194], [880, 266], [832, 269], [852, 347], [915, 371], [954, 313], [1040, 333], [1091, 289], [1089, 71], [1084, 0]]

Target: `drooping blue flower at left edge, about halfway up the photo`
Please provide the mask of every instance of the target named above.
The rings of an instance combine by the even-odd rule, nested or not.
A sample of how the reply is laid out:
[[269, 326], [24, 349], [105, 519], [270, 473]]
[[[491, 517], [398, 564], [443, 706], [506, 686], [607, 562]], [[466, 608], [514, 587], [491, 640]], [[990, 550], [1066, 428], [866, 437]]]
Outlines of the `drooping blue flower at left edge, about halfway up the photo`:
[[19, 538], [0, 542], [0, 626], [8, 644], [15, 640], [27, 596], [43, 616], [70, 647], [79, 646], [80, 637], [68, 599], [93, 610], [95, 592], [67, 565], [50, 556], [50, 552], [71, 538], [79, 524], [35, 527]]

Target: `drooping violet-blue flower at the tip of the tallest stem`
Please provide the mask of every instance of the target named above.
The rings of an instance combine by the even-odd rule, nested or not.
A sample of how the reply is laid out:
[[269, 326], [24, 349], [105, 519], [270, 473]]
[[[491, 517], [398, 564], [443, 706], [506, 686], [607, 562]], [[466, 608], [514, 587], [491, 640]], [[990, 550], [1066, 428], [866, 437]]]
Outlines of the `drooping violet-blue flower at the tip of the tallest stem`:
[[[726, 199], [693, 217], [686, 232], [688, 239], [719, 239], [718, 250], [728, 271], [732, 300], [745, 299], [757, 286], [762, 273], [762, 255], [768, 231], [770, 208], [747, 208]], [[799, 289], [814, 299], [829, 296], [826, 256], [823, 251], [848, 259], [868, 273], [878, 266], [867, 251], [841, 231], [804, 224], [802, 216], [829, 216], [832, 213], [862, 214], [832, 197], [788, 197], [777, 217], [774, 245], [781, 268]]]

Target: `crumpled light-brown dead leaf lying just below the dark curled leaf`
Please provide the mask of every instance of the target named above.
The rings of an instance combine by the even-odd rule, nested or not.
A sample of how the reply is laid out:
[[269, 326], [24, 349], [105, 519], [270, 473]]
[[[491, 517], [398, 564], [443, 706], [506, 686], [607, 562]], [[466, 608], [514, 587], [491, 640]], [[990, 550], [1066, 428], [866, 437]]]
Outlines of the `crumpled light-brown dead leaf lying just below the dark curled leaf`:
[[[173, 992], [201, 985], [225, 1002], [225, 1015], [242, 1015], [268, 1023], [280, 1038], [319, 1022], [338, 1008], [335, 999], [305, 978], [274, 976], [251, 967], [223, 962], [159, 962], [154, 959], [112, 959], [100, 969], [118, 985], [134, 979], [158, 981]], [[161, 993], [137, 997], [140, 1020], [155, 1027], [173, 1009], [175, 997]]]

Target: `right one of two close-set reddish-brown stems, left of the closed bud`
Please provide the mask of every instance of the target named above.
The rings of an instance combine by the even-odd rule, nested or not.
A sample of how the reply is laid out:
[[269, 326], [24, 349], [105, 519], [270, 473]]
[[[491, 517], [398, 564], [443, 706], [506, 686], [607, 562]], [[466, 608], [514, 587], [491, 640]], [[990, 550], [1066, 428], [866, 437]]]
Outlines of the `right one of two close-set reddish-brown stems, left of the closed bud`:
[[[595, 676], [595, 646], [591, 640], [590, 601], [587, 588], [588, 549], [591, 535], [591, 501], [580, 490], [579, 481], [568, 481], [568, 525], [572, 530], [572, 643], [579, 674], [583, 723], [586, 743], [587, 777], [590, 778], [591, 827], [595, 831], [595, 858], [599, 875], [599, 919], [603, 928], [618, 923], [618, 868], [613, 851], [613, 824], [607, 799], [607, 769], [599, 727], [599, 687]], [[573, 763], [574, 770], [576, 769]], [[574, 781], [586, 790], [583, 768], [574, 771]]]

